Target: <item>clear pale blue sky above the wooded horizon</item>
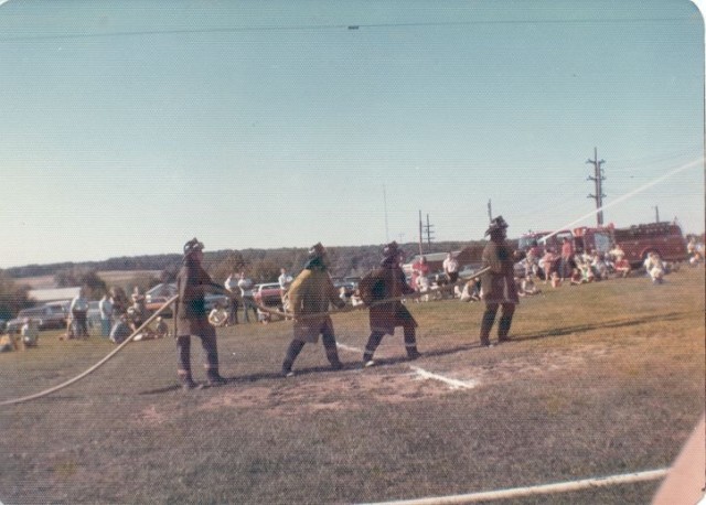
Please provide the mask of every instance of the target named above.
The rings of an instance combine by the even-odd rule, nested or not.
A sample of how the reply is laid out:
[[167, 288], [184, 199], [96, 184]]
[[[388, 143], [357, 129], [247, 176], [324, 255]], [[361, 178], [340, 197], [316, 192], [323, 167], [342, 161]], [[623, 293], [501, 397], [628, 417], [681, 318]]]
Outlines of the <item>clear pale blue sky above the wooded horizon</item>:
[[0, 0], [0, 268], [591, 226], [595, 152], [606, 223], [703, 233], [704, 41], [687, 0]]

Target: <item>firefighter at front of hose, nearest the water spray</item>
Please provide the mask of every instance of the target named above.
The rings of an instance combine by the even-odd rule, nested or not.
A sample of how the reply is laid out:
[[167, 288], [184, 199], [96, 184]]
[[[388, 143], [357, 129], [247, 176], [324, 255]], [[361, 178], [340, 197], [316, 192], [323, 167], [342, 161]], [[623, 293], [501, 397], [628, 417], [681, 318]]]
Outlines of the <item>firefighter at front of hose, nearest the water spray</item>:
[[514, 278], [515, 254], [505, 243], [507, 223], [502, 216], [490, 223], [485, 236], [490, 241], [483, 249], [483, 268], [490, 269], [481, 277], [481, 299], [485, 302], [485, 312], [481, 321], [481, 345], [490, 346], [490, 331], [495, 322], [499, 307], [502, 313], [498, 323], [498, 342], [510, 341], [510, 326], [515, 305], [520, 303]]

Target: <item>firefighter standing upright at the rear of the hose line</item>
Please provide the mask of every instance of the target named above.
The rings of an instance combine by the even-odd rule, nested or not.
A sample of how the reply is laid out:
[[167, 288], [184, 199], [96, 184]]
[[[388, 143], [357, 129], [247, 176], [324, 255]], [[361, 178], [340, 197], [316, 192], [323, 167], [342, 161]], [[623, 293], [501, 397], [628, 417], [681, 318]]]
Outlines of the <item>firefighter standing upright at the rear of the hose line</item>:
[[208, 314], [204, 304], [205, 291], [225, 291], [214, 283], [201, 266], [203, 244], [196, 238], [184, 244], [184, 259], [176, 276], [179, 300], [174, 310], [176, 347], [179, 350], [179, 378], [184, 390], [199, 385], [191, 375], [191, 335], [201, 339], [206, 354], [206, 386], [221, 386], [225, 379], [218, 374], [218, 350], [216, 330], [208, 323]]

